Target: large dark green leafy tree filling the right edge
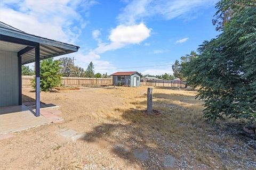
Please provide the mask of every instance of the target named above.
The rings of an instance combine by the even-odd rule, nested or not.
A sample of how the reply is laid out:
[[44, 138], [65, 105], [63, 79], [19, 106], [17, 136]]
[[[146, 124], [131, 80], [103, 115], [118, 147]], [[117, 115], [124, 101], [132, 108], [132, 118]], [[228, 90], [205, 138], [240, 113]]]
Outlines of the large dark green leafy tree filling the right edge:
[[[248, 3], [249, 2], [249, 3]], [[253, 4], [254, 3], [254, 4]], [[232, 15], [222, 24], [222, 33], [205, 41], [199, 55], [182, 73], [188, 84], [200, 87], [204, 115], [210, 121], [223, 116], [256, 122], [256, 4], [255, 1], [222, 0], [219, 19], [226, 10]]]

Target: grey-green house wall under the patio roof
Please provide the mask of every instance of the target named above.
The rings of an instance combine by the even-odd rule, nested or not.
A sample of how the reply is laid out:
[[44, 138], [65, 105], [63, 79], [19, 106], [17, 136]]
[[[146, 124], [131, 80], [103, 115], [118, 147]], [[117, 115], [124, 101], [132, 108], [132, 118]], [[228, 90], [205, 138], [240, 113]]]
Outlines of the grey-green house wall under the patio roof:
[[19, 104], [18, 73], [17, 53], [0, 50], [0, 106]]

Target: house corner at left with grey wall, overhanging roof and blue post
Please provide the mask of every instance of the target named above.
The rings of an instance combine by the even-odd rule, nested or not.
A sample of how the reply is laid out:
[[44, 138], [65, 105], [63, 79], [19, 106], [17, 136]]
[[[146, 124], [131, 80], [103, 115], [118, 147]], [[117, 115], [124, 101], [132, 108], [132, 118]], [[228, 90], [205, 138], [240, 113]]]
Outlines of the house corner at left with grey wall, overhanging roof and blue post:
[[0, 22], [0, 107], [22, 105], [21, 65], [35, 62], [35, 114], [39, 116], [40, 60], [77, 52], [78, 49], [78, 46], [31, 35]]

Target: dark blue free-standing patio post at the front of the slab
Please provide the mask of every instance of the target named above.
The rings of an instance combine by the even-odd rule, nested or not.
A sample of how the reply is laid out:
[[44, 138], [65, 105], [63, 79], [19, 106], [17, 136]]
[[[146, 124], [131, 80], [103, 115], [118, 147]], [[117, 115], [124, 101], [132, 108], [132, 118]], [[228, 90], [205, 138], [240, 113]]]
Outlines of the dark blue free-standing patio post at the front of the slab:
[[36, 116], [40, 116], [40, 52], [39, 44], [35, 46], [36, 57]]

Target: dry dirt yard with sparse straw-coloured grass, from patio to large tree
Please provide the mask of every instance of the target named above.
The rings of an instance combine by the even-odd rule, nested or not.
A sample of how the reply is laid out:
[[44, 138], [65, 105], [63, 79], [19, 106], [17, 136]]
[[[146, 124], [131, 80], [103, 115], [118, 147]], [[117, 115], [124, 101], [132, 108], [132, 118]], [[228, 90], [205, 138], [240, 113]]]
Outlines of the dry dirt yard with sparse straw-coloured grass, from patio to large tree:
[[[81, 88], [81, 87], [80, 87]], [[41, 92], [41, 101], [60, 106], [65, 122], [17, 132], [0, 141], [1, 169], [256, 169], [256, 138], [234, 120], [206, 122], [195, 91], [153, 89], [146, 115], [147, 87], [105, 87]], [[23, 89], [23, 100], [35, 98]], [[72, 142], [55, 132], [85, 133]], [[125, 145], [129, 151], [118, 149]], [[146, 149], [145, 161], [135, 149]]]

